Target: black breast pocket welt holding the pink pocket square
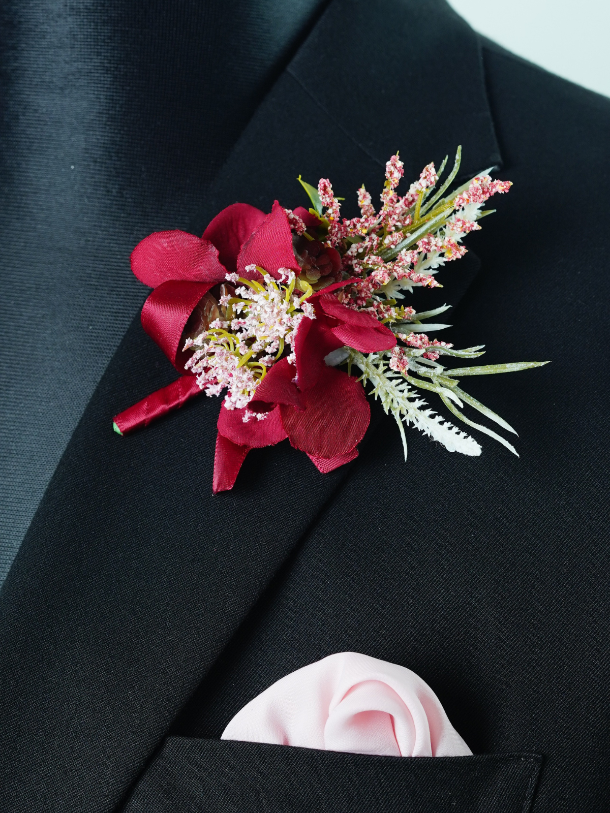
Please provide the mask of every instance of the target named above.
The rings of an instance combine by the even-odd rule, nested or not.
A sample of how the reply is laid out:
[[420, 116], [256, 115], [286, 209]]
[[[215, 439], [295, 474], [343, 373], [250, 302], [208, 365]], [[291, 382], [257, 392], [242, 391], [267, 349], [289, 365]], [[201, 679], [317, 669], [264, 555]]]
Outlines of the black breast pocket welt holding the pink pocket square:
[[169, 737], [124, 813], [528, 813], [536, 754], [401, 759]]

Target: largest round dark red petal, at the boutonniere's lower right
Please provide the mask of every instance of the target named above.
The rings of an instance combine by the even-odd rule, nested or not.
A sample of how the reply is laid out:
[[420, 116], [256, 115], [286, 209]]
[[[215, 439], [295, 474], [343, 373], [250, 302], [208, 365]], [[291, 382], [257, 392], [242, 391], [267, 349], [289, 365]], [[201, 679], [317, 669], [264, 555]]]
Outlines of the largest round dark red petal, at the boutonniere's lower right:
[[303, 412], [294, 406], [279, 407], [292, 446], [316, 458], [351, 452], [364, 437], [371, 415], [360, 382], [335, 367], [325, 367], [306, 394]]

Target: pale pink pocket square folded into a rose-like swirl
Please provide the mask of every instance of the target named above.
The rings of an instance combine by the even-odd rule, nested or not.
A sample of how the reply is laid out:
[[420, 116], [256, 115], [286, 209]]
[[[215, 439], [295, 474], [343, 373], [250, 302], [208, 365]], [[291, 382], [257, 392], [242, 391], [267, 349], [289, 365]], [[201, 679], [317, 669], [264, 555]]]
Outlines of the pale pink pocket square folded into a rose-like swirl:
[[380, 756], [472, 754], [415, 672], [356, 652], [277, 680], [237, 712], [221, 738]]

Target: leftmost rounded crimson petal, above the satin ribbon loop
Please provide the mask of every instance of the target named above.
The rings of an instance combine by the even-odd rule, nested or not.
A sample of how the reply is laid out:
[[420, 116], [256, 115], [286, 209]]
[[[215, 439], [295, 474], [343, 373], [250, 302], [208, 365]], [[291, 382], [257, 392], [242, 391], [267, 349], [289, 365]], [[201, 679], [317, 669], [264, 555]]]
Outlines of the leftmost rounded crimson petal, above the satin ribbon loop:
[[168, 280], [216, 285], [226, 273], [210, 241], [177, 229], [145, 237], [133, 249], [131, 268], [137, 279], [150, 288]]

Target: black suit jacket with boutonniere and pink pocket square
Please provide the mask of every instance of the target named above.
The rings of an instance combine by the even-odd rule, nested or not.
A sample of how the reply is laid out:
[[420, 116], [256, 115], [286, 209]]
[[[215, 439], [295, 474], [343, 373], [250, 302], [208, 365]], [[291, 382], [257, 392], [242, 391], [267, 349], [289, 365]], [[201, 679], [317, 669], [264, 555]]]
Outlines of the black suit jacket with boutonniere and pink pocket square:
[[[191, 228], [235, 200], [303, 203], [299, 172], [379, 189], [397, 148], [407, 177], [458, 143], [464, 176], [501, 167], [511, 193], [439, 279], [457, 346], [553, 359], [471, 387], [521, 458], [411, 431], [404, 463], [373, 403], [353, 463], [323, 476], [285, 441], [212, 497], [218, 399], [111, 432], [172, 380], [136, 315], [0, 593], [2, 810], [608, 806], [609, 120], [607, 100], [481, 47], [440, 0], [329, 3]], [[476, 755], [218, 739], [273, 680], [342, 650], [417, 672]]]

